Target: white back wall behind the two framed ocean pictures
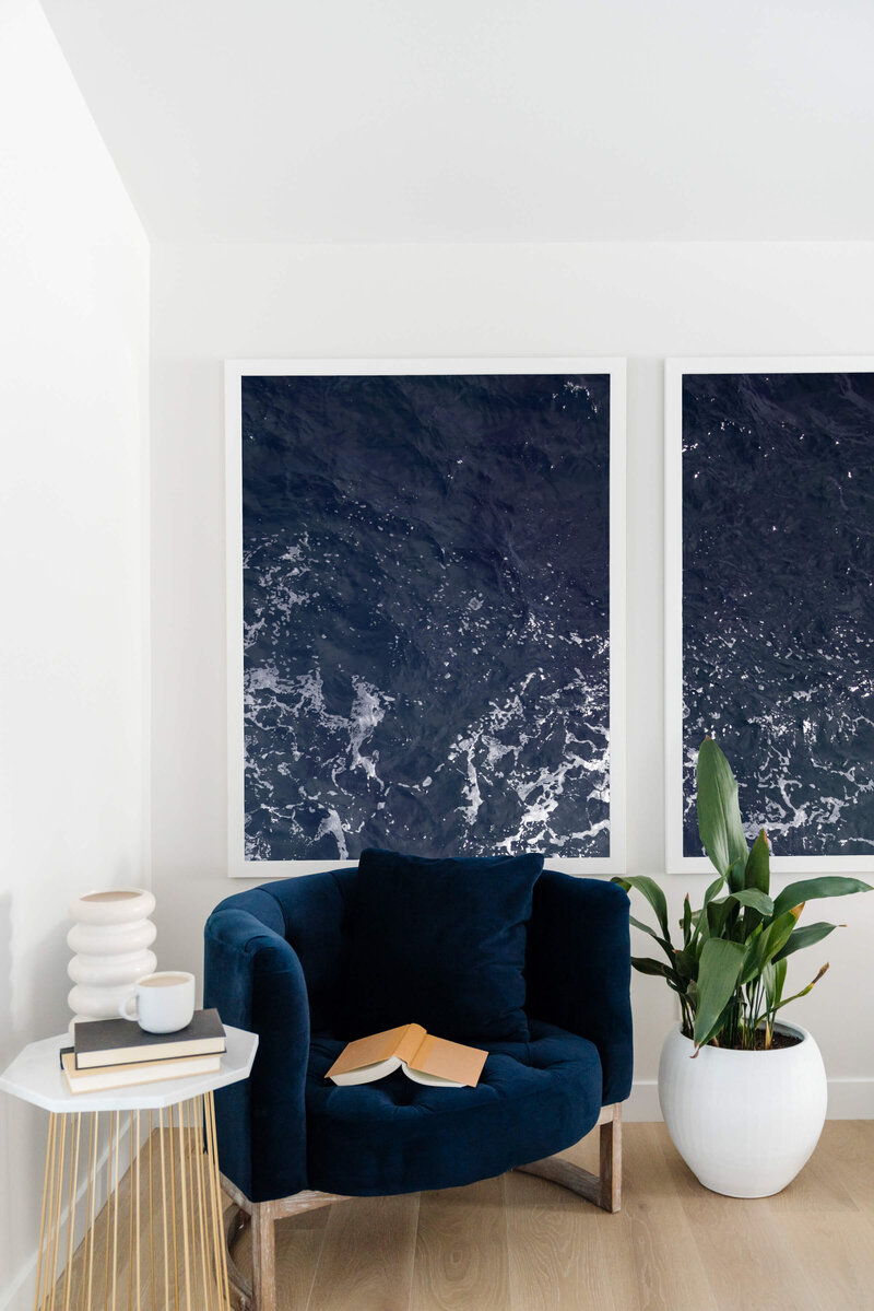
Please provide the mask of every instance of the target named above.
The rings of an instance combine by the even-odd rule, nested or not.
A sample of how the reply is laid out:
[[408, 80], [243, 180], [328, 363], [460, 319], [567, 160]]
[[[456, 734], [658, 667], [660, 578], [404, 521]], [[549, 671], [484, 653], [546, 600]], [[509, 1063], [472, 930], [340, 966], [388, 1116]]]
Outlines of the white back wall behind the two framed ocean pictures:
[[[663, 871], [664, 355], [874, 354], [874, 244], [153, 249], [153, 861], [161, 962], [200, 970], [225, 878], [221, 361], [225, 357], [626, 355], [629, 872]], [[670, 878], [679, 914], [687, 886]], [[874, 1116], [874, 895], [795, 1019], [823, 1047], [831, 1113]], [[816, 918], [820, 918], [819, 914]], [[649, 952], [647, 952], [649, 954]], [[636, 978], [634, 1110], [654, 1118], [660, 981]]]

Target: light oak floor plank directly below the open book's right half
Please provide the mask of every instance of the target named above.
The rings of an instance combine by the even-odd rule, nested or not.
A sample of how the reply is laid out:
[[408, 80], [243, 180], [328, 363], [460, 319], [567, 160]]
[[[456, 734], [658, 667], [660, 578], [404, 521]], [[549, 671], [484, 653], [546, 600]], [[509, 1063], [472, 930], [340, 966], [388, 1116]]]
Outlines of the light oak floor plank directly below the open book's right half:
[[422, 1193], [413, 1268], [415, 1311], [506, 1311], [504, 1180]]

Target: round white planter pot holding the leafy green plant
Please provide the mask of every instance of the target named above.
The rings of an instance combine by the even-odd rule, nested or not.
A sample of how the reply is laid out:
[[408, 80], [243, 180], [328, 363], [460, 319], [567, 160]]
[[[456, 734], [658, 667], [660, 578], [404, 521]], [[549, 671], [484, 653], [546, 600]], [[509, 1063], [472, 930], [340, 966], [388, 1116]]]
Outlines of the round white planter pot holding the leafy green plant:
[[826, 1122], [826, 1067], [795, 1024], [793, 1047], [731, 1051], [668, 1033], [659, 1062], [659, 1103], [674, 1146], [705, 1188], [726, 1197], [770, 1197], [808, 1160]]

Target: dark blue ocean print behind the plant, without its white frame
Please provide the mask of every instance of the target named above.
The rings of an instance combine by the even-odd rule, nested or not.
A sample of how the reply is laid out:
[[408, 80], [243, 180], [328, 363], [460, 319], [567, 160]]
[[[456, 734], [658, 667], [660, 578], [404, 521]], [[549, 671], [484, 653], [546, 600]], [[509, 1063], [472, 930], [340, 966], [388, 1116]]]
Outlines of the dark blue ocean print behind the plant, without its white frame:
[[683, 382], [684, 853], [725, 750], [750, 838], [874, 852], [874, 374]]

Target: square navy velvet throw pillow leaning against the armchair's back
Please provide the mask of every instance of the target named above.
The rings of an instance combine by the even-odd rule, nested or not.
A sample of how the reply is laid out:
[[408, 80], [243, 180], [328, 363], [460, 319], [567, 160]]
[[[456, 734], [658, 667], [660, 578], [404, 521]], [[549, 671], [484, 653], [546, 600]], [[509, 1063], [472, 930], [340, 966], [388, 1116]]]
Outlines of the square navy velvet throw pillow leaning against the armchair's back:
[[356, 1033], [415, 1023], [440, 1038], [527, 1042], [523, 970], [542, 868], [542, 856], [363, 851], [347, 978]]

